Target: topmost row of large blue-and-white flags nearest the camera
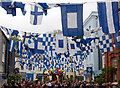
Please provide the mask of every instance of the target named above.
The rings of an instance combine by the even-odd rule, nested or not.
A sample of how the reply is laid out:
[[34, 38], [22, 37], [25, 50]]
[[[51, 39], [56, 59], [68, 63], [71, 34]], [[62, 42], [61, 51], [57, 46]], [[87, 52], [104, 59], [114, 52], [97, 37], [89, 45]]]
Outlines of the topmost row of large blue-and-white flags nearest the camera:
[[[16, 16], [16, 8], [20, 8], [25, 15], [25, 4], [22, 2], [0, 2], [1, 7], [7, 14]], [[83, 36], [83, 5], [84, 4], [54, 4], [54, 7], [61, 8], [61, 22], [64, 36]], [[42, 22], [43, 14], [52, 6], [47, 3], [32, 3], [30, 11], [30, 23], [39, 25]], [[100, 27], [103, 33], [117, 33], [119, 31], [119, 8], [118, 1], [97, 2]], [[102, 18], [102, 19], [101, 19]]]

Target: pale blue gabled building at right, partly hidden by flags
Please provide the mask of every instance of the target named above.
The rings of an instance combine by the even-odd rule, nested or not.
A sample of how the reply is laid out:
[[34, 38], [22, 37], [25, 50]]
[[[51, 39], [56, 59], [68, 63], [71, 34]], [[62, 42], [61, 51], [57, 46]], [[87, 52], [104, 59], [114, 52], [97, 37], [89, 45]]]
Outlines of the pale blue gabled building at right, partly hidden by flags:
[[[97, 29], [99, 27], [99, 19], [97, 12], [91, 12], [88, 18], [84, 21], [84, 31], [90, 32], [93, 29]], [[102, 30], [97, 30], [96, 32], [90, 32], [90, 34], [84, 35], [84, 38], [95, 38], [97, 36], [102, 36]], [[101, 55], [99, 48], [94, 48], [93, 52], [84, 60], [84, 80], [90, 81], [91, 78], [94, 80], [95, 75], [101, 72], [101, 69], [104, 67], [105, 59], [104, 56]], [[92, 74], [87, 74], [87, 67], [92, 67]]]

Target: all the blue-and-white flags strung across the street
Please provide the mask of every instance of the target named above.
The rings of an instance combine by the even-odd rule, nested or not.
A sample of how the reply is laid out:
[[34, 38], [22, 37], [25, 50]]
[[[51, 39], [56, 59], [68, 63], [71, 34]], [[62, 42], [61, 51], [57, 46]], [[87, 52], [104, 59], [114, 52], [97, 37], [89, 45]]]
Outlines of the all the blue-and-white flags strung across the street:
[[[23, 32], [21, 41], [10, 40], [10, 52], [16, 51], [24, 59], [17, 59], [20, 66], [26, 69], [49, 70], [60, 68], [67, 71], [79, 71], [84, 68], [83, 60], [99, 46], [101, 53], [113, 51], [112, 34], [115, 47], [120, 47], [118, 2], [98, 2], [98, 16], [102, 36], [95, 38], [68, 39], [66, 36], [83, 36], [83, 4], [59, 5], [61, 7], [63, 34], [27, 33]], [[16, 8], [20, 8], [23, 15], [25, 4], [21, 2], [1, 2], [7, 14], [16, 16]], [[46, 3], [31, 5], [31, 21], [33, 25], [41, 24], [43, 14], [47, 15], [50, 7]], [[101, 19], [102, 18], [102, 19]], [[0, 27], [7, 35], [18, 37], [18, 30]], [[94, 45], [93, 45], [94, 44]], [[95, 46], [95, 47], [93, 47]], [[75, 66], [73, 66], [73, 63]]]

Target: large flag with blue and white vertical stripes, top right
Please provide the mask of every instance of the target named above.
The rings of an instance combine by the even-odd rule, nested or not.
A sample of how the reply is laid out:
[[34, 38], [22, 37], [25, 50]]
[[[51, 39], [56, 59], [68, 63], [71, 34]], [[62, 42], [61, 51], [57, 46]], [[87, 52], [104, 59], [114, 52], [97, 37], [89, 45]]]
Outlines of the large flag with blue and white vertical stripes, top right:
[[99, 2], [98, 15], [103, 33], [117, 33], [119, 31], [118, 2]]

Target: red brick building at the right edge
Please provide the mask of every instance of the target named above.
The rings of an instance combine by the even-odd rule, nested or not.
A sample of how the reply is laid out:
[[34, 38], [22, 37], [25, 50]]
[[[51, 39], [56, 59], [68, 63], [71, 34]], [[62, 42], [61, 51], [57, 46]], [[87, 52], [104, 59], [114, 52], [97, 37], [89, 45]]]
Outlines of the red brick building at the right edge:
[[106, 73], [106, 81], [118, 82], [120, 80], [120, 48], [113, 47], [112, 52], [105, 53], [105, 65], [106, 70], [108, 67], [114, 67], [112, 73]]

